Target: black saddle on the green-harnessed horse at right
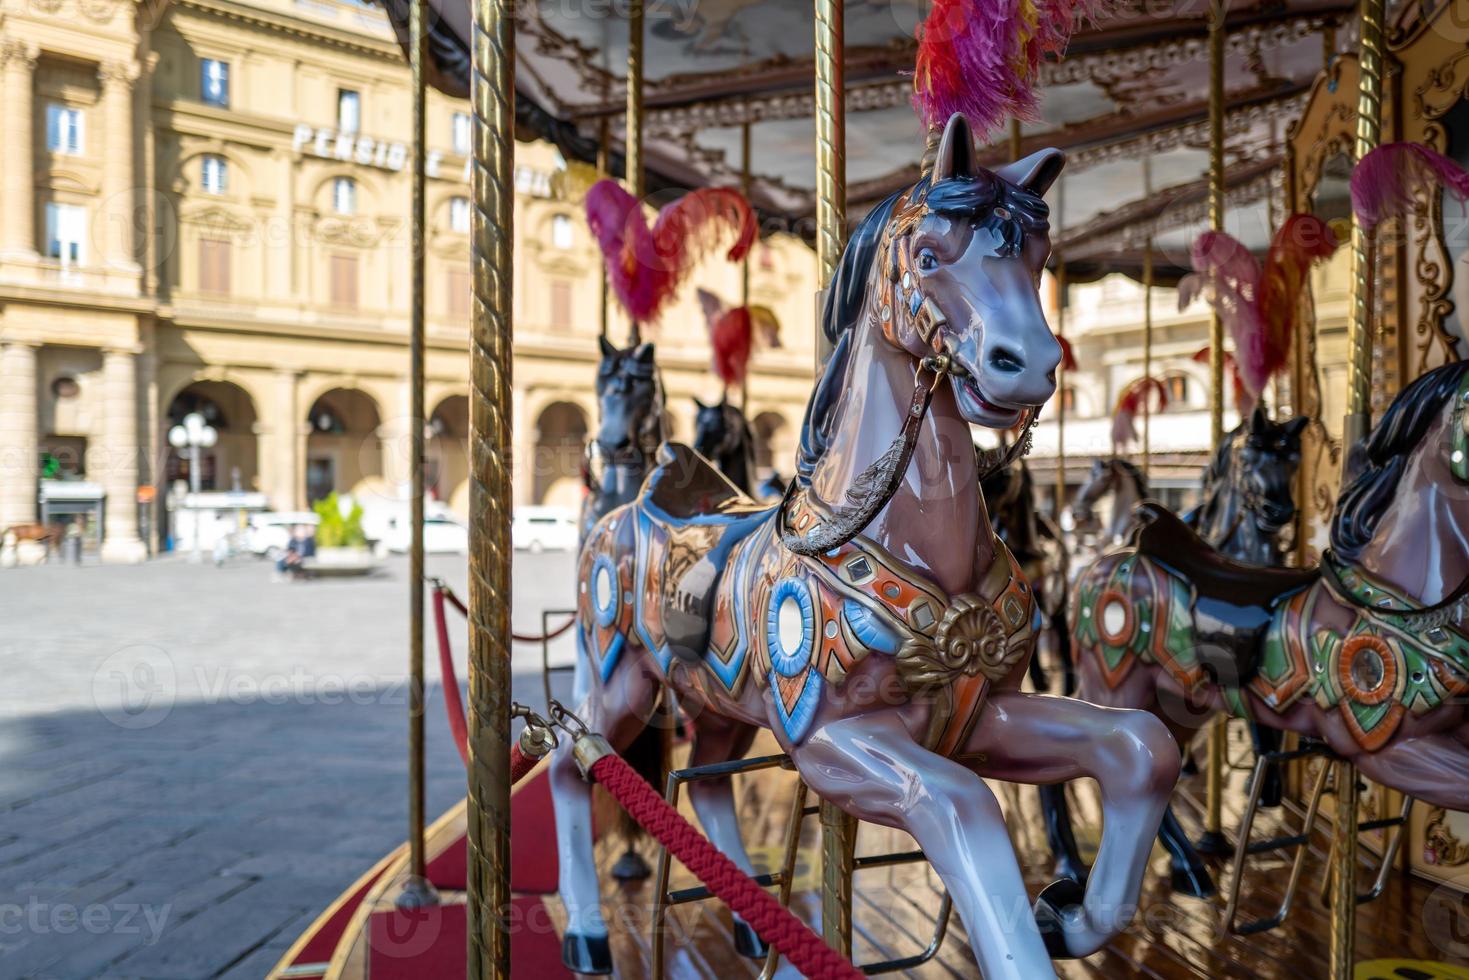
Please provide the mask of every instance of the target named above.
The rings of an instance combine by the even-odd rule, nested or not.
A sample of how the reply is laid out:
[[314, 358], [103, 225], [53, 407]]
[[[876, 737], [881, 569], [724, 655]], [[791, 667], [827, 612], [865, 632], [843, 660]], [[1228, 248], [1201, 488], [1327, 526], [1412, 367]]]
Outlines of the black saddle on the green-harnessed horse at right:
[[1134, 511], [1137, 552], [1193, 586], [1199, 663], [1224, 686], [1247, 683], [1259, 670], [1275, 610], [1321, 577], [1319, 569], [1269, 569], [1232, 561], [1155, 501]]

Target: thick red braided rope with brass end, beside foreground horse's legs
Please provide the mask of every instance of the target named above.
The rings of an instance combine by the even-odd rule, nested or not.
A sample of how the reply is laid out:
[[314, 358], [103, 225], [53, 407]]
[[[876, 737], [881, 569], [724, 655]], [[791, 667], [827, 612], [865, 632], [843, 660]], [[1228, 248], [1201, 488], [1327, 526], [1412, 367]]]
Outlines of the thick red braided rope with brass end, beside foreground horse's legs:
[[[516, 752], [511, 751], [511, 768]], [[740, 918], [773, 945], [805, 977], [812, 980], [859, 980], [862, 971], [842, 959], [811, 929], [782, 907], [776, 898], [740, 871], [733, 861], [704, 839], [677, 810], [639, 776], [620, 755], [604, 755], [592, 765], [592, 777], [623, 805], [638, 824], [668, 848]]]

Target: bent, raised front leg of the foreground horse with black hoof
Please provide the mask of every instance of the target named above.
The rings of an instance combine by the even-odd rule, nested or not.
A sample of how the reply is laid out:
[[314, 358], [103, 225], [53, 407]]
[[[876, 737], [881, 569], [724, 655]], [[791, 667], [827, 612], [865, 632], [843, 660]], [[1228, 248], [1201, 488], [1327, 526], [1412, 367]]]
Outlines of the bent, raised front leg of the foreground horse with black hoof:
[[990, 695], [965, 745], [981, 776], [1056, 783], [1090, 776], [1102, 789], [1102, 845], [1086, 892], [1064, 882], [1042, 892], [1056, 955], [1087, 956], [1122, 932], [1137, 909], [1147, 858], [1178, 782], [1178, 745], [1146, 711], [1000, 691]]

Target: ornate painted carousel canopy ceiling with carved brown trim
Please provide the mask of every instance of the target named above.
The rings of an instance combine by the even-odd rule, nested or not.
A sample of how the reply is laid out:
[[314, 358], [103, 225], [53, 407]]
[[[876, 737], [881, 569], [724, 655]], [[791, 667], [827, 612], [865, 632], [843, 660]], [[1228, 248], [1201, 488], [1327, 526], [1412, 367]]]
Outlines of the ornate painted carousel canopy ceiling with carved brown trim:
[[[469, 90], [466, 0], [429, 0], [433, 81]], [[407, 0], [386, 0], [405, 37]], [[1351, 50], [1356, 4], [1234, 0], [1225, 65], [1227, 229], [1252, 248], [1271, 235], [1281, 147], [1328, 57]], [[917, 178], [924, 134], [911, 106], [915, 26], [928, 0], [848, 0], [846, 138], [849, 209], [859, 215]], [[527, 135], [592, 160], [602, 122], [617, 169], [626, 93], [626, 3], [516, 4], [517, 113]], [[742, 126], [751, 123], [751, 198], [805, 231], [814, 213], [811, 3], [648, 3], [645, 159], [649, 188], [737, 184]], [[1209, 3], [1124, 0], [1087, 24], [1064, 60], [1042, 73], [1042, 119], [1021, 153], [1059, 147], [1069, 163], [1050, 198], [1058, 254], [1072, 278], [1137, 273], [1153, 238], [1159, 281], [1188, 264], [1206, 226], [1209, 169]], [[1008, 159], [1009, 134], [984, 137], [983, 159]], [[1275, 220], [1279, 204], [1275, 203]]]

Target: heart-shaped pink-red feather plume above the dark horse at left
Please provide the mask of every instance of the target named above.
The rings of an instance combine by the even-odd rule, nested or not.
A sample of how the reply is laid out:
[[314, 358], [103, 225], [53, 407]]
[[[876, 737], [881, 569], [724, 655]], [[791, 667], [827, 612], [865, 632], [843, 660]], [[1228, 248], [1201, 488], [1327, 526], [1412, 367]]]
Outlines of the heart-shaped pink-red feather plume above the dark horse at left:
[[649, 228], [638, 198], [610, 179], [586, 192], [586, 223], [607, 262], [608, 287], [639, 323], [658, 319], [723, 237], [734, 235], [727, 257], [739, 262], [758, 232], [749, 203], [729, 188], [690, 191], [658, 212]]

